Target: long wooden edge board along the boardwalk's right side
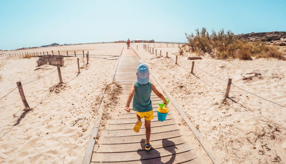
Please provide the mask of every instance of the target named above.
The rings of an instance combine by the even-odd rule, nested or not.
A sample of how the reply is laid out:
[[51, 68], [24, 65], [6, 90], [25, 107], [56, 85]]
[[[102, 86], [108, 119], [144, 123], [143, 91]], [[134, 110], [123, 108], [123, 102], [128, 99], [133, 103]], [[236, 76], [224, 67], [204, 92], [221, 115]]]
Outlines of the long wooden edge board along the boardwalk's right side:
[[[132, 48], [132, 47], [131, 47]], [[139, 59], [142, 61], [142, 63], [144, 63], [144, 61], [141, 59], [141, 57], [136, 53], [136, 51], [132, 48], [132, 50], [135, 52], [135, 54], [139, 57]], [[149, 69], [149, 72], [151, 73], [151, 75], [154, 77], [155, 81], [159, 84], [159, 86], [163, 86], [160, 82], [158, 82], [157, 76], [155, 76], [155, 74]], [[161, 87], [162, 88], [162, 87]], [[188, 119], [186, 113], [182, 110], [182, 108], [177, 104], [176, 100], [171, 96], [171, 94], [169, 94], [168, 91], [164, 90], [162, 88], [162, 90], [165, 92], [165, 94], [167, 95], [167, 97], [170, 99], [170, 101], [172, 102], [172, 104], [174, 105], [174, 107], [177, 109], [177, 111], [180, 113], [180, 115], [182, 116], [182, 118], [184, 119], [184, 121], [186, 122], [186, 124], [188, 125], [188, 127], [191, 129], [191, 131], [193, 132], [193, 134], [196, 136], [197, 140], [200, 142], [200, 144], [202, 145], [202, 147], [204, 148], [204, 150], [206, 151], [207, 155], [210, 157], [210, 160], [214, 163], [214, 164], [219, 164], [219, 161], [217, 161], [217, 157], [214, 153], [212, 153], [203, 143], [203, 138], [201, 136], [201, 134], [197, 131], [197, 128], [195, 128], [193, 126], [193, 123]]]

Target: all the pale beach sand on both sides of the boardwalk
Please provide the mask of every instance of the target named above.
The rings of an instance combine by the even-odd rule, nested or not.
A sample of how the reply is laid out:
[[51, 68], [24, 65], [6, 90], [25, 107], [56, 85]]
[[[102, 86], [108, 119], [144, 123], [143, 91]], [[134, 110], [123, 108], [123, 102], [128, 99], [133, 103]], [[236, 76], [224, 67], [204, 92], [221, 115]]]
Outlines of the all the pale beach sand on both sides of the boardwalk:
[[[166, 44], [162, 44], [161, 48], [161, 44], [155, 44], [154, 53], [157, 49], [159, 56], [161, 50], [164, 56], [159, 58], [144, 50], [142, 43], [138, 44], [136, 50], [136, 44], [133, 43], [131, 47], [155, 73], [157, 80], [163, 84], [163, 89], [176, 99], [193, 126], [198, 128], [204, 144], [216, 154], [219, 163], [286, 162], [286, 108], [234, 86], [231, 87], [230, 98], [225, 99], [227, 82], [220, 80], [232, 78], [236, 86], [286, 106], [285, 61], [257, 59], [228, 62], [207, 56], [203, 56], [203, 60], [195, 60], [197, 67], [220, 78], [217, 79], [197, 67], [192, 75], [191, 60], [187, 60], [191, 54], [179, 56], [179, 65], [176, 65], [177, 44], [174, 44], [174, 48], [166, 48]], [[53, 50], [60, 51], [61, 54], [66, 54], [66, 51], [69, 54], [74, 51], [81, 54], [84, 50], [89, 51], [89, 54], [119, 55], [123, 46], [126, 48], [125, 43], [72, 45], [39, 48], [29, 52], [49, 51], [50, 54]], [[168, 47], [173, 47], [173, 44], [168, 44]], [[22, 51], [10, 53], [15, 52]], [[165, 58], [166, 52], [170, 58]], [[22, 81], [22, 84], [30, 82], [56, 69], [55, 66], [41, 66], [35, 70], [38, 68], [36, 60], [37, 58], [0, 57], [0, 64], [2, 61], [5, 63], [0, 68], [3, 77], [0, 97], [14, 89], [17, 81]], [[75, 61], [75, 57], [65, 58], [65, 65]], [[90, 57], [91, 64], [82, 68], [82, 73], [78, 76], [76, 64], [61, 68], [66, 88], [57, 94], [49, 93], [49, 88], [59, 82], [57, 71], [23, 85], [27, 101], [34, 108], [23, 119], [19, 118], [23, 114], [23, 103], [17, 89], [0, 100], [0, 137], [8, 132], [0, 138], [0, 163], [81, 163], [98, 115], [98, 105], [116, 62], [117, 60]], [[81, 60], [81, 65], [83, 64]], [[107, 93], [115, 94], [118, 102], [110, 104], [109, 97], [105, 97], [104, 107], [113, 108], [115, 105], [116, 108], [113, 111], [105, 110], [104, 118], [116, 118], [119, 112], [124, 112], [126, 102], [122, 100], [125, 97], [108, 89]], [[170, 108], [174, 109], [173, 106]], [[180, 118], [177, 112], [174, 116]], [[17, 120], [20, 121], [19, 125], [13, 126]], [[75, 124], [76, 120], [79, 121]], [[202, 163], [210, 163], [183, 122], [177, 120], [182, 132], [188, 136], [185, 139], [197, 148]]]

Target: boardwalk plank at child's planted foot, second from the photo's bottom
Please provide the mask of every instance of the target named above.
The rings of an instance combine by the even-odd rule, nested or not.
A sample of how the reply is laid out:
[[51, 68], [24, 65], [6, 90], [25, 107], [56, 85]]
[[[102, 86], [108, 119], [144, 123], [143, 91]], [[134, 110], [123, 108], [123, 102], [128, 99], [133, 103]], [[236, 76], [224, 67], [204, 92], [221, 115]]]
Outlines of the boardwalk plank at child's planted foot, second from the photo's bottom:
[[[145, 160], [145, 159], [153, 159], [164, 156], [175, 155], [176, 153], [187, 152], [192, 149], [188, 143], [164, 147], [159, 149], [151, 149], [149, 151], [145, 151], [145, 148], [142, 145], [142, 149], [138, 149], [136, 152], [128, 152], [128, 153], [93, 153], [92, 162], [123, 162], [123, 161], [135, 161], [135, 160]], [[193, 154], [194, 158], [196, 158], [195, 152], [190, 151], [190, 154]], [[128, 155], [127, 155], [128, 154]]]

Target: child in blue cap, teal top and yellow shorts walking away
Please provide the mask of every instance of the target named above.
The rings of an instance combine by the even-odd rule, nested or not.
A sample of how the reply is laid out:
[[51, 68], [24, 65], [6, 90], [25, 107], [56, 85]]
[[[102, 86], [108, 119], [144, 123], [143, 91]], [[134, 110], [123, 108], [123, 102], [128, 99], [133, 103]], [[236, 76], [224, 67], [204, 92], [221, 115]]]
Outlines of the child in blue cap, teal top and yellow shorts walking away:
[[[163, 94], [161, 94], [155, 87], [154, 84], [149, 82], [149, 68], [145, 63], [140, 63], [137, 67], [137, 81], [132, 84], [131, 90], [129, 92], [127, 102], [125, 105], [125, 110], [130, 112], [130, 110], [136, 111], [137, 122], [133, 128], [135, 132], [139, 132], [142, 125], [141, 118], [145, 119], [145, 150], [151, 149], [150, 135], [151, 135], [151, 119], [154, 119], [153, 108], [151, 103], [151, 92], [153, 91], [163, 103], [167, 103]], [[134, 97], [133, 97], [134, 96]], [[133, 97], [133, 108], [129, 108]]]

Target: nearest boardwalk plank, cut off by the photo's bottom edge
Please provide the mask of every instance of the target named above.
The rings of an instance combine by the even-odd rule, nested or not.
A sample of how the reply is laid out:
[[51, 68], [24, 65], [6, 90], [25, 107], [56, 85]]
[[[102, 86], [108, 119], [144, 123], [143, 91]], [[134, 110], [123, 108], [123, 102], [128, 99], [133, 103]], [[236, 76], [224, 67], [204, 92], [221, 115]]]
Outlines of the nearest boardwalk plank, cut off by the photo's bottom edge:
[[[187, 151], [184, 153], [178, 153], [171, 156], [137, 160], [137, 161], [124, 161], [124, 162], [108, 162], [108, 164], [199, 164], [200, 161], [197, 156], [193, 153], [194, 150]], [[91, 164], [98, 164], [99, 162], [91, 162]]]

